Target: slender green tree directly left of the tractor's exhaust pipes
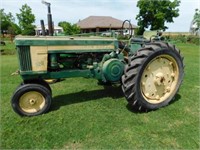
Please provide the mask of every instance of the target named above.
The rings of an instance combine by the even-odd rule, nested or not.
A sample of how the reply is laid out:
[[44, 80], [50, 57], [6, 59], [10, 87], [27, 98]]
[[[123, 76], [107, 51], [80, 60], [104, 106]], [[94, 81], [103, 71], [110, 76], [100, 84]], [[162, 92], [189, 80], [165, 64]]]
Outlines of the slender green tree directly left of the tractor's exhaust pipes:
[[32, 13], [32, 9], [27, 5], [22, 5], [20, 13], [16, 14], [19, 20], [19, 26], [23, 35], [34, 35], [35, 26], [32, 24], [35, 22], [35, 15]]

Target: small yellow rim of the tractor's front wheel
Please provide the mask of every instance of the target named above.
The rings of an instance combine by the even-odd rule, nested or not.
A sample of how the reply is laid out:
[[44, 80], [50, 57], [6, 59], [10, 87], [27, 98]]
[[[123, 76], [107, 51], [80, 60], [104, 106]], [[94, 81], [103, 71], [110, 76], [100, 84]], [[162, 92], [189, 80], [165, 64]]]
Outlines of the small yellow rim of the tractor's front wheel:
[[44, 96], [37, 91], [30, 91], [23, 94], [19, 99], [20, 108], [27, 113], [40, 111], [45, 105]]

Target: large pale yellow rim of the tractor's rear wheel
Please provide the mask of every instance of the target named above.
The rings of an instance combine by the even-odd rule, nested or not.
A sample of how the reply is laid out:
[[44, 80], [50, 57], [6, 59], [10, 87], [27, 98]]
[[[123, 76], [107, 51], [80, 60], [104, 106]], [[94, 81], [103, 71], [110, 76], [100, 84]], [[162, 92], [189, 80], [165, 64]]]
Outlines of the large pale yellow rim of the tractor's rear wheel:
[[158, 104], [167, 100], [178, 83], [179, 68], [169, 55], [159, 55], [148, 63], [141, 78], [141, 91], [145, 100]]

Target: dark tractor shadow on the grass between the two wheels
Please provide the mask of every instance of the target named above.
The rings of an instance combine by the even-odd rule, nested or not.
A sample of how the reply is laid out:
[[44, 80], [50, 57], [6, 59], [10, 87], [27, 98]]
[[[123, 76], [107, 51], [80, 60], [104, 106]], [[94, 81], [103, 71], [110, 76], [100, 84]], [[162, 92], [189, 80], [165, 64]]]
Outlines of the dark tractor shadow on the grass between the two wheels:
[[82, 103], [86, 101], [99, 100], [101, 98], [118, 99], [124, 97], [121, 86], [104, 86], [104, 89], [93, 91], [80, 91], [53, 97], [51, 111], [58, 110], [61, 106]]

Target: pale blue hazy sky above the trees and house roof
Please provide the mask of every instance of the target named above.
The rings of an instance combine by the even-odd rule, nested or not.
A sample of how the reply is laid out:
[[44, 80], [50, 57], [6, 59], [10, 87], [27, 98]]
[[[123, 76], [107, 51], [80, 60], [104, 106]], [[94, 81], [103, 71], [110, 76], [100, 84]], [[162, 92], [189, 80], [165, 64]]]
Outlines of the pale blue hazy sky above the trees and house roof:
[[[51, 13], [54, 24], [60, 21], [77, 23], [89, 16], [112, 16], [120, 20], [131, 20], [137, 25], [136, 15], [138, 0], [46, 0], [51, 3]], [[47, 24], [47, 6], [41, 0], [1, 0], [0, 8], [6, 13], [11, 12], [16, 18], [22, 5], [31, 7], [36, 17], [35, 25], [40, 25], [40, 20]], [[180, 15], [174, 18], [174, 23], [166, 24], [168, 32], [188, 32], [195, 9], [200, 8], [200, 0], [181, 0]]]

